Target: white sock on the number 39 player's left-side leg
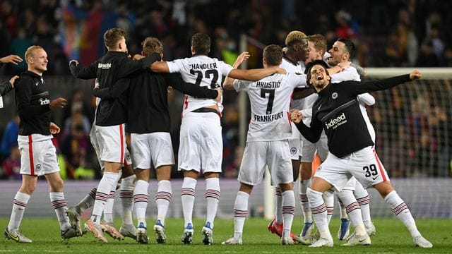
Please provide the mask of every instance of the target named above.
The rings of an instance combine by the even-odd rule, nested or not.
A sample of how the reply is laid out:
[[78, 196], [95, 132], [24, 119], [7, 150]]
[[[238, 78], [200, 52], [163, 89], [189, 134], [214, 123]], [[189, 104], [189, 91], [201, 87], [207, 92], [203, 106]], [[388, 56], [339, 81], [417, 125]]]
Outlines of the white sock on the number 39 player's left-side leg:
[[319, 191], [313, 191], [311, 188], [307, 189], [309, 205], [311, 206], [312, 216], [316, 222], [322, 238], [333, 239], [328, 228], [328, 220], [326, 219], [326, 205], [323, 202], [322, 194]]

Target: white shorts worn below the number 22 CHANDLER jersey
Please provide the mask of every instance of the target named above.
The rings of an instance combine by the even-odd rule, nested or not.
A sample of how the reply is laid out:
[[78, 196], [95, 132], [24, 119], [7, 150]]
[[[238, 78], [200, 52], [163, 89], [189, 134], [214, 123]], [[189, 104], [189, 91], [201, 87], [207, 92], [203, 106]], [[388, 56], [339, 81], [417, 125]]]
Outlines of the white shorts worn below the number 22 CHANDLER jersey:
[[184, 114], [179, 143], [179, 171], [221, 172], [223, 142], [218, 114]]

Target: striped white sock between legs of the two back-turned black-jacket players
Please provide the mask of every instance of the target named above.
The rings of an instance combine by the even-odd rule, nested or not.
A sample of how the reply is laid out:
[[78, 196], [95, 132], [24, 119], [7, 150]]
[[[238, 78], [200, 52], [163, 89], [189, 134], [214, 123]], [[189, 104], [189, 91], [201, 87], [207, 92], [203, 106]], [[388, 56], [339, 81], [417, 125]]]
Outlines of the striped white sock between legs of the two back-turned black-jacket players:
[[132, 209], [133, 209], [133, 191], [135, 190], [135, 181], [136, 181], [135, 175], [124, 177], [121, 181], [121, 188], [119, 189], [119, 198], [121, 198], [123, 225], [133, 225]]

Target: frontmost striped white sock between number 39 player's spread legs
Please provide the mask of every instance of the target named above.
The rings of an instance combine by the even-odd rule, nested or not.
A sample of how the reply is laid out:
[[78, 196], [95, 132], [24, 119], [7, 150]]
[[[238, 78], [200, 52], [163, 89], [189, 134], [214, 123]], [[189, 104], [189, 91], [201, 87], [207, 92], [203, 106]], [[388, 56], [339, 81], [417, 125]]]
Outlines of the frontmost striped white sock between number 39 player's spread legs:
[[364, 228], [364, 223], [362, 222], [361, 209], [359, 204], [350, 190], [343, 190], [338, 192], [338, 198], [342, 201], [345, 210], [347, 211], [348, 217], [350, 217], [350, 222], [355, 226], [355, 232], [357, 236], [362, 236], [366, 234], [366, 229]]

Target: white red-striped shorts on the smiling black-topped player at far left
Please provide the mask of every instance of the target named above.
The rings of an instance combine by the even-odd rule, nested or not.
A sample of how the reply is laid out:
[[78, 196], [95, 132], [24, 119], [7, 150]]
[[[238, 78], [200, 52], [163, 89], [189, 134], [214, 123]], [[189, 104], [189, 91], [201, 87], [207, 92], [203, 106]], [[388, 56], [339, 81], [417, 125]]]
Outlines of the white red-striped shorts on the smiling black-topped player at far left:
[[33, 142], [31, 135], [28, 142], [18, 141], [20, 150], [20, 174], [42, 176], [59, 171], [57, 149], [52, 140]]

